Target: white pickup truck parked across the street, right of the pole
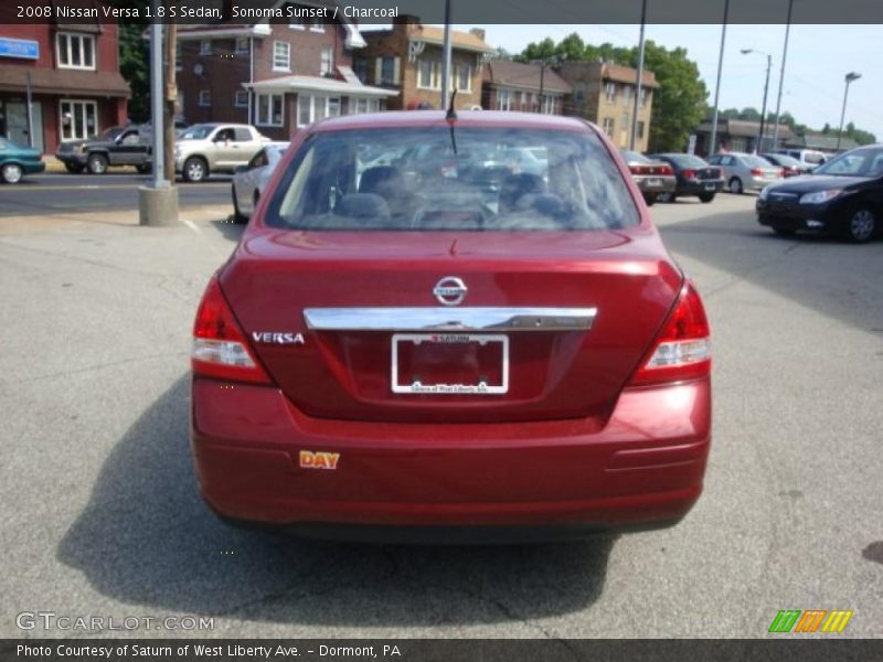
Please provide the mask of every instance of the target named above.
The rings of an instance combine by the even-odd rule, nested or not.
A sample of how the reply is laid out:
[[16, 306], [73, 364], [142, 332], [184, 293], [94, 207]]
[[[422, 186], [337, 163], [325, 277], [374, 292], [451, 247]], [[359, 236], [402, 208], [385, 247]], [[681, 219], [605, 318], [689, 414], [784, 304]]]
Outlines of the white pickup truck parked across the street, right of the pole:
[[185, 182], [205, 181], [214, 172], [233, 173], [269, 141], [249, 125], [193, 125], [174, 143], [174, 171]]

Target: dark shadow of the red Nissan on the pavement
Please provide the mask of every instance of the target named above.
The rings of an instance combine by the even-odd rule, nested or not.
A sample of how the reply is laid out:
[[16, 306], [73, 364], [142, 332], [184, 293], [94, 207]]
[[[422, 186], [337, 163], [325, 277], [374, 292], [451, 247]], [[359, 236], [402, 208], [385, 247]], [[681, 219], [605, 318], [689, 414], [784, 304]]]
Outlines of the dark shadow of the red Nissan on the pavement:
[[182, 376], [105, 461], [56, 551], [115, 602], [305, 626], [497, 623], [581, 610], [614, 542], [524, 546], [345, 545], [219, 522], [202, 503]]

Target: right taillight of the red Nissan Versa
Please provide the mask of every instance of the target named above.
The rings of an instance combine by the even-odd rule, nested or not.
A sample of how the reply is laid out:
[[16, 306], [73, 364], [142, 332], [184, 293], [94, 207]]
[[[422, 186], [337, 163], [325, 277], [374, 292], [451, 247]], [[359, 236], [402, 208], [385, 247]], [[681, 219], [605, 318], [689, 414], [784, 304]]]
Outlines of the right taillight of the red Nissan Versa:
[[693, 284], [687, 281], [652, 351], [631, 377], [629, 386], [695, 380], [710, 372], [709, 321], [699, 293]]

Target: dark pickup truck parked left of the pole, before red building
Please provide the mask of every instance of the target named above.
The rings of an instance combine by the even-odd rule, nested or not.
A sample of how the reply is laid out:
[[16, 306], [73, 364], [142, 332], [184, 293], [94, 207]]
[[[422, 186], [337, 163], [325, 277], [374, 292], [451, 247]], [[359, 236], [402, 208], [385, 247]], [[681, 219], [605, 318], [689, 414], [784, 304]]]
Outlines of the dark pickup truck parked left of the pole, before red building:
[[74, 173], [104, 174], [111, 166], [135, 166], [138, 172], [149, 172], [150, 136], [146, 126], [113, 127], [87, 140], [62, 142], [55, 158]]

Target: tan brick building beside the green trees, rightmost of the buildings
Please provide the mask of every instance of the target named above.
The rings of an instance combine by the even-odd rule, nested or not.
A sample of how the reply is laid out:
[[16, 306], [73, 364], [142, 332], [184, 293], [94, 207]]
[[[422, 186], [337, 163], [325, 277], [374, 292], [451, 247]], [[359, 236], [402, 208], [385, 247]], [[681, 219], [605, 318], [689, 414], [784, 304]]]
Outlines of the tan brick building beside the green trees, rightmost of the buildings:
[[[564, 62], [555, 67], [573, 86], [567, 115], [577, 115], [598, 125], [617, 147], [628, 147], [638, 71], [611, 62]], [[652, 72], [645, 71], [638, 106], [638, 136], [635, 149], [647, 151], [653, 90], [659, 87]]]

